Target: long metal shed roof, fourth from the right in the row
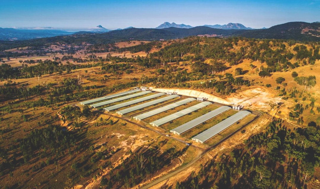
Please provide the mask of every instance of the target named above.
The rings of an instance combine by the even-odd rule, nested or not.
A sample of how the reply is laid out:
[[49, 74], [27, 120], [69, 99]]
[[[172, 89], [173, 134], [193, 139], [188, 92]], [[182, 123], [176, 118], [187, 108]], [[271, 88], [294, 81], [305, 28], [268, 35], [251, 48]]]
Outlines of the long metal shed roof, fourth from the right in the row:
[[157, 109], [152, 110], [150, 112], [142, 113], [142, 114], [137, 115], [137, 116], [135, 116], [133, 118], [136, 119], [136, 120], [143, 120], [143, 119], [146, 119], [146, 118], [151, 117], [153, 115], [156, 115], [158, 113], [161, 113], [161, 112], [164, 112], [164, 111], [167, 111], [167, 110], [171, 110], [171, 109], [173, 109], [175, 107], [187, 104], [187, 103], [195, 101], [195, 100], [196, 100], [195, 98], [186, 98], [186, 99], [180, 100], [178, 102], [175, 102], [175, 103], [172, 103], [172, 104], [157, 108]]

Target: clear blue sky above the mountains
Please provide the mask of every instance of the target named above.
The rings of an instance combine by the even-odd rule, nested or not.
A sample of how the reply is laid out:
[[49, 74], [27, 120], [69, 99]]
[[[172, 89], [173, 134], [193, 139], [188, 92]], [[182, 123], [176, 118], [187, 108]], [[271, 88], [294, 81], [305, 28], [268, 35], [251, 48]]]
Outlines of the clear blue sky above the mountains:
[[154, 28], [241, 23], [262, 28], [320, 21], [320, 0], [2, 0], [0, 27]]

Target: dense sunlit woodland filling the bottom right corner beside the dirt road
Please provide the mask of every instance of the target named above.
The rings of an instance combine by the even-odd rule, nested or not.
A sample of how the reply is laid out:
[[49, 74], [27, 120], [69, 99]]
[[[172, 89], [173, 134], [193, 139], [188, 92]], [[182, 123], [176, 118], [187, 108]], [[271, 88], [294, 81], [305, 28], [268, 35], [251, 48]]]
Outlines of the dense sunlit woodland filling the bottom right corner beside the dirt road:
[[177, 189], [183, 188], [306, 188], [320, 163], [320, 127], [287, 129], [281, 120], [252, 136], [241, 148], [201, 166]]

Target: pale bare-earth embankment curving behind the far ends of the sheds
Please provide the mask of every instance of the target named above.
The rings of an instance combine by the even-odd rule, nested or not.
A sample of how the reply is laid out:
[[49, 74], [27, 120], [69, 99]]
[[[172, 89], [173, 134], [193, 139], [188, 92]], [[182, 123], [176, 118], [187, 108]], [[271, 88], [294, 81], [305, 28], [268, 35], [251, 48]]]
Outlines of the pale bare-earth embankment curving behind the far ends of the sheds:
[[197, 91], [194, 89], [177, 89], [177, 88], [152, 88], [152, 91], [157, 91], [157, 92], [172, 92], [178, 95], [183, 95], [183, 96], [189, 96], [189, 97], [199, 97], [199, 98], [206, 98], [209, 101], [213, 102], [218, 102], [221, 104], [226, 104], [229, 105], [230, 102], [226, 99], [223, 99], [221, 97], [208, 94], [206, 92], [202, 91]]

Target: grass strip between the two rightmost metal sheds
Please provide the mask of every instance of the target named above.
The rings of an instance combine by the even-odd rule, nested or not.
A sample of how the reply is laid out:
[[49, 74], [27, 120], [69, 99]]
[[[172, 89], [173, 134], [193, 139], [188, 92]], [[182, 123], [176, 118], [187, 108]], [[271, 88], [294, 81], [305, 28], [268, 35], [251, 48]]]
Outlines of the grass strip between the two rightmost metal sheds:
[[209, 129], [210, 127], [216, 125], [217, 123], [221, 122], [222, 120], [227, 119], [228, 117], [236, 114], [237, 111], [235, 110], [229, 110], [211, 120], [208, 120], [207, 122], [185, 132], [182, 134], [182, 136], [186, 139], [191, 139], [192, 137], [196, 136], [197, 134], [200, 134], [204, 132], [205, 130]]

